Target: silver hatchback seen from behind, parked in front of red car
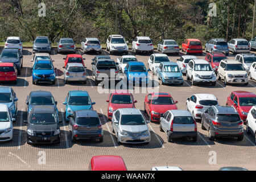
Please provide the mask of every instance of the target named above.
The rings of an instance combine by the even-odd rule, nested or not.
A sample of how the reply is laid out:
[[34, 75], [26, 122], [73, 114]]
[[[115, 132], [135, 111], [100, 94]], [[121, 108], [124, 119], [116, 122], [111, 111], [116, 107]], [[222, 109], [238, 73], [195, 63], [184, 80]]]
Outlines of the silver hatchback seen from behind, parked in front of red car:
[[81, 63], [68, 63], [64, 68], [64, 82], [81, 81], [86, 84], [86, 67]]

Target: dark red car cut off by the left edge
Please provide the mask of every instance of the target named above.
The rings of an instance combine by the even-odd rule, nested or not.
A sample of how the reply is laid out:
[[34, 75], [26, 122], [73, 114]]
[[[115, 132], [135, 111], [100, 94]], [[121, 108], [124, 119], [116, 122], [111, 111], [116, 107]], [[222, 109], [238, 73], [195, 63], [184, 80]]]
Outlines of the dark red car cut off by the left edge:
[[14, 63], [0, 63], [0, 81], [17, 83], [17, 69]]

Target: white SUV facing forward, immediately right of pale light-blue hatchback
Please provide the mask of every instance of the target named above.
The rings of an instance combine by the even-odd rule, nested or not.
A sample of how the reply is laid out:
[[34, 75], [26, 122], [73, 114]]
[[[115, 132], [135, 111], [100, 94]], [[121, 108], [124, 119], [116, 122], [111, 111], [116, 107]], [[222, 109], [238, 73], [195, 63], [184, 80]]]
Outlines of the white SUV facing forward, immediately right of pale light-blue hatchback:
[[187, 65], [187, 80], [192, 81], [192, 85], [196, 83], [212, 83], [212, 86], [216, 85], [216, 75], [214, 73], [215, 68], [203, 59], [192, 59]]

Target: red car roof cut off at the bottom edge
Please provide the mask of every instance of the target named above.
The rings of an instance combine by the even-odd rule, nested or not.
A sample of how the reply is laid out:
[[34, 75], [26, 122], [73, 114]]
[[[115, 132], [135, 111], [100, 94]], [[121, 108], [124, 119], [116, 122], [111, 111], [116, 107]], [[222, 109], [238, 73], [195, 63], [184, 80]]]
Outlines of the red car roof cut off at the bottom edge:
[[89, 171], [127, 171], [121, 156], [98, 155], [90, 159]]

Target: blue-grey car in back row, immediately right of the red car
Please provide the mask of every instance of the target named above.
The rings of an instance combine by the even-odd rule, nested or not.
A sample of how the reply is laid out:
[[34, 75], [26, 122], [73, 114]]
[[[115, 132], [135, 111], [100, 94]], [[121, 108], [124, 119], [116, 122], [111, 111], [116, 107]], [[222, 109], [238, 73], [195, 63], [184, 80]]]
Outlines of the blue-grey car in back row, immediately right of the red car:
[[225, 39], [212, 39], [205, 44], [205, 52], [222, 52], [229, 55], [228, 43]]

